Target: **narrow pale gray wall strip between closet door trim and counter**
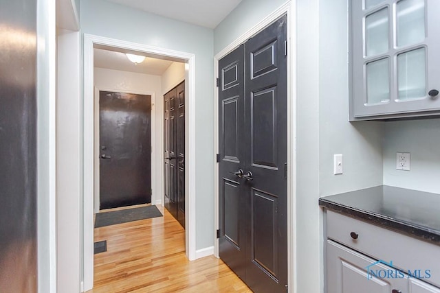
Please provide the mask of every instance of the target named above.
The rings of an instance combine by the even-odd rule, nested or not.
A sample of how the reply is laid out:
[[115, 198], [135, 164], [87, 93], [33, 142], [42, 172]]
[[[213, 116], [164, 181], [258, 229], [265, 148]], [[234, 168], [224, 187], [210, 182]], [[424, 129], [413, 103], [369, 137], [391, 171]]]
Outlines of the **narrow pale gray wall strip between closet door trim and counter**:
[[296, 7], [296, 292], [320, 292], [319, 3]]

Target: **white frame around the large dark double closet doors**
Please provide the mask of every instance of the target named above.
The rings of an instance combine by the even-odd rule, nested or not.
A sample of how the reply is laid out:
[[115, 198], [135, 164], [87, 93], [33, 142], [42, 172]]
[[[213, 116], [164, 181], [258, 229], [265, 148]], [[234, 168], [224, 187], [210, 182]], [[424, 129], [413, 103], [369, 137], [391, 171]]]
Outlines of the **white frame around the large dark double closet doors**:
[[[214, 56], [214, 78], [219, 77], [219, 60], [265, 27], [287, 14], [287, 283], [296, 292], [296, 1], [285, 3], [248, 32]], [[214, 154], [219, 153], [219, 93], [214, 87]], [[219, 228], [219, 163], [214, 164], [214, 231]], [[215, 234], [215, 233], [214, 233]], [[214, 235], [214, 255], [219, 257], [219, 239]]]

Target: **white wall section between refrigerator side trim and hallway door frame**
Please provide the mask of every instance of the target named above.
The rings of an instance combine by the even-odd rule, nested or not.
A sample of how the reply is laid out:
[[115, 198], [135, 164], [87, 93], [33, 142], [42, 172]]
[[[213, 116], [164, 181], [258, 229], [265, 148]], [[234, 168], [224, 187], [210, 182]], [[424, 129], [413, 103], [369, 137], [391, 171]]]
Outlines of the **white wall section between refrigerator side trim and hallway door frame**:
[[81, 222], [80, 33], [58, 31], [57, 47], [57, 292], [77, 293]]

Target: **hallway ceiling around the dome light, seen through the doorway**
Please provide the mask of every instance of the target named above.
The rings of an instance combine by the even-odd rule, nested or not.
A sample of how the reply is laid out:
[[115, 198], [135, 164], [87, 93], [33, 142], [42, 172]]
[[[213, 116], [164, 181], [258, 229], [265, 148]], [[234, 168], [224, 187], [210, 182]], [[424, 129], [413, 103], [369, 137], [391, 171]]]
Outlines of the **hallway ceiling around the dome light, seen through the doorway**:
[[[137, 55], [142, 54], [137, 53]], [[94, 49], [94, 66], [104, 69], [162, 75], [171, 63], [173, 63], [173, 61], [147, 57], [144, 62], [135, 65], [126, 58], [125, 54], [122, 52], [97, 48]]]

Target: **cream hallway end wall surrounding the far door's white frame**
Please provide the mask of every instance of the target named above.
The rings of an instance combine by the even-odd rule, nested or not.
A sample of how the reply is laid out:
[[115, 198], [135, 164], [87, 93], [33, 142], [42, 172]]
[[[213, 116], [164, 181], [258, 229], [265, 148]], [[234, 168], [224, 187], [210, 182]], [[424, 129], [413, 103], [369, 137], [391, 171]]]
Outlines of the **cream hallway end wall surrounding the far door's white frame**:
[[[149, 75], [142, 73], [133, 73], [127, 71], [118, 71], [111, 69], [94, 69], [94, 82], [96, 91], [123, 91], [128, 93], [140, 93], [151, 95], [151, 144], [153, 156], [151, 158], [151, 189], [153, 194], [151, 202], [153, 204], [162, 204], [164, 194], [164, 184], [160, 180], [162, 174], [162, 78], [159, 75]], [[98, 105], [99, 96], [96, 95], [96, 105]], [[95, 108], [95, 145], [99, 152], [99, 112], [98, 106]], [[99, 166], [98, 156], [95, 156], [95, 166]], [[99, 169], [95, 168], [96, 182], [99, 180]], [[95, 185], [95, 194], [99, 194], [99, 184]], [[98, 199], [98, 197], [96, 198]], [[95, 210], [99, 206], [99, 201], [95, 202]]]

